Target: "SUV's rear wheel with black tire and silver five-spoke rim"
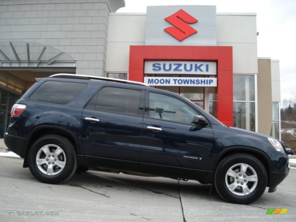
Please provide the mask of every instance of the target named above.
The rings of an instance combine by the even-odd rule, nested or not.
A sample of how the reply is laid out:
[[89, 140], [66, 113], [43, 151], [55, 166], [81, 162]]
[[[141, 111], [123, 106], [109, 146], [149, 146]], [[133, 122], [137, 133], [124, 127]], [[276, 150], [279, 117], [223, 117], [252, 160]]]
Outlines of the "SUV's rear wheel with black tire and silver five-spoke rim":
[[39, 181], [60, 184], [71, 178], [77, 168], [73, 144], [62, 136], [42, 136], [28, 152], [28, 166]]

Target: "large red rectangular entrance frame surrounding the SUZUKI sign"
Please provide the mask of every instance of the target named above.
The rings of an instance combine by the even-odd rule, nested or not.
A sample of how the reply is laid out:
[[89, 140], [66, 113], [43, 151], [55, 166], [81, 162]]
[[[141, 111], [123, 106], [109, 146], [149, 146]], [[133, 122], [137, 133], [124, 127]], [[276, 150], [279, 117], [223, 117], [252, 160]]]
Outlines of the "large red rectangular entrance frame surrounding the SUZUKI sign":
[[233, 68], [231, 46], [130, 46], [129, 75], [132, 81], [144, 81], [146, 60], [217, 62], [217, 118], [233, 126]]

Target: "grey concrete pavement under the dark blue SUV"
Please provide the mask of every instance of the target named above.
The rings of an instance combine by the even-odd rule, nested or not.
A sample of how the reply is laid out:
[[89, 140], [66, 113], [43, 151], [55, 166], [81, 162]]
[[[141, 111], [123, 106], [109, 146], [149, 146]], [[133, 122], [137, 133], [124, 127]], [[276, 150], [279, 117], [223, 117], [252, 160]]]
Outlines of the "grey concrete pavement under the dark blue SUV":
[[[5, 222], [294, 222], [296, 217], [296, 170], [276, 192], [266, 189], [257, 201], [237, 205], [197, 181], [90, 170], [54, 185], [37, 181], [20, 159], [0, 157], [0, 169], [0, 221]], [[288, 210], [266, 215], [269, 208]]]

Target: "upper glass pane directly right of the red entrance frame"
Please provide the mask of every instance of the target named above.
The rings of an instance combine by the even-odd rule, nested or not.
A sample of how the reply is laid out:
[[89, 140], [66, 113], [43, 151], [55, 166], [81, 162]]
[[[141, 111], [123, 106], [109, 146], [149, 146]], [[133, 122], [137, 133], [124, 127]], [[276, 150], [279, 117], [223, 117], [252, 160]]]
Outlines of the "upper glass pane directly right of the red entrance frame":
[[233, 100], [255, 101], [254, 75], [233, 75]]

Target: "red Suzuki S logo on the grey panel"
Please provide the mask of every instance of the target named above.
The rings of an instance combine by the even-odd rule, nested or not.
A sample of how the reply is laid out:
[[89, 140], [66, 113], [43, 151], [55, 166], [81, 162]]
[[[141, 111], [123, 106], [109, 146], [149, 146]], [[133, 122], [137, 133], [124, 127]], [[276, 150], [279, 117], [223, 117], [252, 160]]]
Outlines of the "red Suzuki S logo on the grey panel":
[[178, 39], [180, 42], [183, 41], [188, 36], [191, 36], [194, 33], [197, 33], [197, 30], [192, 28], [189, 24], [198, 22], [197, 19], [189, 15], [183, 9], [180, 9], [178, 12], [174, 13], [165, 18], [165, 21], [172, 24], [174, 27], [168, 27], [164, 30], [169, 33], [171, 36]]

